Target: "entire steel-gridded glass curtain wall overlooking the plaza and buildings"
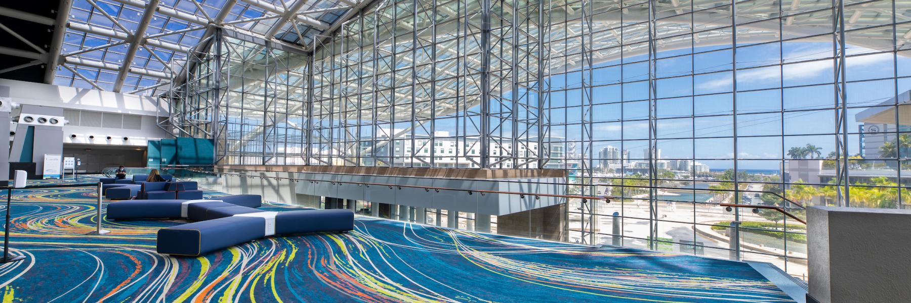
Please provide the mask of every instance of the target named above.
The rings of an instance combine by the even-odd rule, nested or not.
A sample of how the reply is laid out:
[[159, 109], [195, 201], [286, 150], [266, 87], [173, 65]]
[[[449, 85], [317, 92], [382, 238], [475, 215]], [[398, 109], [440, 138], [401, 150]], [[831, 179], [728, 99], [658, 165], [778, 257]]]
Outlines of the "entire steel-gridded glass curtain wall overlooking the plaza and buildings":
[[805, 225], [748, 207], [909, 207], [909, 12], [905, 0], [376, 1], [312, 56], [221, 37], [221, 55], [200, 59], [219, 64], [190, 69], [199, 87], [180, 96], [218, 110], [171, 120], [218, 137], [220, 164], [565, 169], [568, 193], [611, 199], [570, 200], [568, 241], [804, 277]]

